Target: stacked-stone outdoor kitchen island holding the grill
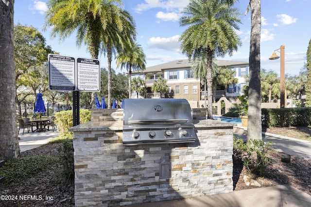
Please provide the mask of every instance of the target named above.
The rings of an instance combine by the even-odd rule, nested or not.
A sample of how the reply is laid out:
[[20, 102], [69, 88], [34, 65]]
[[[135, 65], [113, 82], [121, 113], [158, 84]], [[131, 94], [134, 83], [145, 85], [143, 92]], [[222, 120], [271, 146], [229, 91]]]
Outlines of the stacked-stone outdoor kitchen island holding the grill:
[[[200, 109], [198, 109], [200, 111]], [[122, 143], [123, 109], [93, 110], [73, 131], [76, 207], [112, 207], [233, 191], [233, 125], [195, 119], [194, 142]]]

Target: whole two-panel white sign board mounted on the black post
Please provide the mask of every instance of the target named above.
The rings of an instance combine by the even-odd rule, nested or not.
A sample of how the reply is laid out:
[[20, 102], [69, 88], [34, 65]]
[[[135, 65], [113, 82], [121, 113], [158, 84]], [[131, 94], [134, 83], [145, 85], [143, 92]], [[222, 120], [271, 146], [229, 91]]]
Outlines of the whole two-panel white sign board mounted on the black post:
[[100, 61], [49, 54], [49, 88], [52, 91], [101, 90]]

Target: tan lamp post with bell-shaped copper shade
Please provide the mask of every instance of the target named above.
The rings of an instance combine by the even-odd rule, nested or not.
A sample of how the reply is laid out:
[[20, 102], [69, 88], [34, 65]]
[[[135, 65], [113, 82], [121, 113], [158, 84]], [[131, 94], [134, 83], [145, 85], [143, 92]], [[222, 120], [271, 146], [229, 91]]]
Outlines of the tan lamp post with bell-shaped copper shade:
[[[276, 55], [276, 51], [280, 53], [280, 57]], [[280, 108], [285, 107], [285, 46], [281, 46], [279, 49], [274, 50], [269, 60], [276, 60], [280, 58]]]

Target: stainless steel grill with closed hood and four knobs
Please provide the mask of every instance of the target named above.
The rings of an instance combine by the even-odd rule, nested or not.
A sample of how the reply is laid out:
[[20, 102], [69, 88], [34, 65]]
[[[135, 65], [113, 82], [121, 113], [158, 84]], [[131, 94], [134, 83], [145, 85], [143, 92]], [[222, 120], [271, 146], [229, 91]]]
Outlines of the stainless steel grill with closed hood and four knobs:
[[196, 138], [186, 99], [125, 99], [123, 144], [189, 143]]

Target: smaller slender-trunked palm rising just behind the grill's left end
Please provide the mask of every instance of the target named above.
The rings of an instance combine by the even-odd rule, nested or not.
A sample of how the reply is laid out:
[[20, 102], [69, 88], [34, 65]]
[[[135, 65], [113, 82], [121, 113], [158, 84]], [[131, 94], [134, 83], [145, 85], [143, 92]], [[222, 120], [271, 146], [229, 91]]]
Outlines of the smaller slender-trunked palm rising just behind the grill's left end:
[[129, 40], [129, 44], [125, 48], [119, 51], [116, 57], [117, 67], [124, 67], [128, 71], [128, 96], [132, 97], [131, 93], [131, 74], [132, 70], [145, 70], [146, 69], [146, 55], [143, 52], [141, 46], [137, 42]]

